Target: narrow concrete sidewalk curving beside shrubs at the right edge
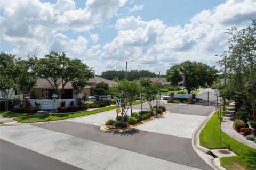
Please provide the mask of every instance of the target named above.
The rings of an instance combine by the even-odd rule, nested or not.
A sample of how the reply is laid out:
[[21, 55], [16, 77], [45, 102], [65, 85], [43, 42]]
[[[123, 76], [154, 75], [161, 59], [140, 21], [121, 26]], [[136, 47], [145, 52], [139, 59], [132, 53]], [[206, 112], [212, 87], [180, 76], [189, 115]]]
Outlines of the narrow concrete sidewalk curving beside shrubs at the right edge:
[[227, 112], [225, 113], [225, 116], [223, 117], [223, 120], [221, 122], [221, 130], [227, 133], [231, 138], [234, 138], [237, 141], [256, 149], [256, 143], [245, 139], [242, 135], [240, 135], [233, 129], [234, 114], [235, 114], [235, 104], [230, 103], [228, 106]]

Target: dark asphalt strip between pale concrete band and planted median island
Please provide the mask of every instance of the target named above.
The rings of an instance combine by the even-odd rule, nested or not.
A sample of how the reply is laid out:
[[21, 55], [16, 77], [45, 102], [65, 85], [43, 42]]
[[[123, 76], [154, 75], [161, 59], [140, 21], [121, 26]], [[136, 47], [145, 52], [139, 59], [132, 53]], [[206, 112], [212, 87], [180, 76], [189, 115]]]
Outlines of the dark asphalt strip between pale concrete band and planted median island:
[[139, 154], [164, 159], [200, 169], [212, 169], [191, 146], [191, 139], [141, 130], [126, 132], [101, 131], [99, 126], [69, 121], [35, 124], [34, 126], [73, 135]]

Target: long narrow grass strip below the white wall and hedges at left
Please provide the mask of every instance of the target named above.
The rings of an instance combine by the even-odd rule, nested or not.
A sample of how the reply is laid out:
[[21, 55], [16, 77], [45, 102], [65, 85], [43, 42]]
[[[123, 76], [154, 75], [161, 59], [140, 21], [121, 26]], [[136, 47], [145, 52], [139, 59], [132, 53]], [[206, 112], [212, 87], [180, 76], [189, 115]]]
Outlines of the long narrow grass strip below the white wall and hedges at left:
[[[137, 105], [139, 103], [140, 103], [140, 101], [135, 101], [132, 104]], [[58, 121], [58, 120], [64, 120], [67, 118], [74, 118], [74, 117], [80, 117], [80, 116], [90, 115], [90, 114], [94, 114], [94, 113], [109, 111], [109, 110], [115, 109], [115, 108], [117, 108], [117, 106], [107, 106], [107, 107], [94, 109], [91, 111], [82, 111], [82, 112], [76, 112], [76, 113], [41, 114], [41, 115], [33, 115], [33, 116], [22, 116], [22, 117], [14, 118], [14, 120], [21, 122], [21, 123]]]

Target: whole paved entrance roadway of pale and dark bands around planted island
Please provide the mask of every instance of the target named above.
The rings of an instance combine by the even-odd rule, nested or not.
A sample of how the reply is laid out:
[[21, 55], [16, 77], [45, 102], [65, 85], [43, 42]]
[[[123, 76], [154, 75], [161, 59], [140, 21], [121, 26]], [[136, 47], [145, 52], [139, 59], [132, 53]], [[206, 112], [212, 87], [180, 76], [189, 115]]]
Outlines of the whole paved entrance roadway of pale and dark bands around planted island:
[[[42, 162], [46, 157], [60, 167], [67, 163], [81, 169], [134, 169], [134, 166], [136, 169], [212, 169], [192, 148], [191, 133], [213, 107], [164, 105], [170, 114], [121, 133], [101, 131], [97, 125], [115, 117], [115, 111], [60, 122], [1, 126], [0, 138], [8, 141], [1, 142], [1, 148], [10, 147], [11, 142], [22, 147], [17, 149], [17, 158], [12, 156], [15, 159], [29, 149], [33, 153], [30, 157], [37, 153]], [[138, 107], [133, 106], [134, 111]], [[143, 104], [143, 109], [146, 107]], [[30, 157], [27, 154], [23, 163], [19, 162], [22, 164], [19, 169], [27, 169], [26, 159]], [[10, 159], [8, 153], [2, 154], [1, 149], [1, 162], [7, 159]], [[11, 162], [7, 163], [12, 167]]]

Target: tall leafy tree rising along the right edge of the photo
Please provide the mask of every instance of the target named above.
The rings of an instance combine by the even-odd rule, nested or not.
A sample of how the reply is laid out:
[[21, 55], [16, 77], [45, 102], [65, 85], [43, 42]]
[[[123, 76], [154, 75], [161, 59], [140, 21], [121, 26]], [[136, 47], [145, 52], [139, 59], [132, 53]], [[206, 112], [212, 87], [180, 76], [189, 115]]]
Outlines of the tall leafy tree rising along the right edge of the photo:
[[234, 91], [232, 98], [236, 106], [247, 107], [249, 102], [252, 115], [256, 116], [256, 20], [243, 29], [233, 27], [228, 29], [230, 36], [229, 48], [223, 53], [225, 59], [219, 61], [220, 65], [226, 64], [229, 76], [229, 87]]

